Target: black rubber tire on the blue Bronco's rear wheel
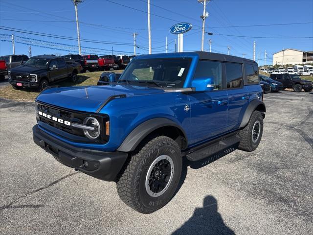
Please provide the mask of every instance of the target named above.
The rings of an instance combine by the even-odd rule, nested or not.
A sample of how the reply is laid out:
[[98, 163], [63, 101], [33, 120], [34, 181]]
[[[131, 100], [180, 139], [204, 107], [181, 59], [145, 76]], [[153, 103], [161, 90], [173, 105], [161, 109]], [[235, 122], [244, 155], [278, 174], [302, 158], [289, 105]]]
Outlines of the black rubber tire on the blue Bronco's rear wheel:
[[[252, 141], [252, 131], [254, 124], [259, 121], [260, 123], [260, 134], [256, 142]], [[248, 124], [244, 129], [242, 129], [238, 135], [241, 138], [239, 142], [238, 149], [244, 150], [247, 152], [254, 151], [258, 146], [262, 138], [263, 133], [263, 116], [259, 111], [254, 111], [249, 119]]]

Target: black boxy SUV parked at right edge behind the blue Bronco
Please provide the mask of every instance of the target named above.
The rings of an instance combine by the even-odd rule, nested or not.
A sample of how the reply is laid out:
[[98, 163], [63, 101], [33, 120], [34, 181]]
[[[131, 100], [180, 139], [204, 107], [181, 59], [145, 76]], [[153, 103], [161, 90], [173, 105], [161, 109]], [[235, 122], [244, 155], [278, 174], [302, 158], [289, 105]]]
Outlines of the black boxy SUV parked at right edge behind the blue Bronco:
[[297, 74], [270, 74], [271, 79], [283, 83], [284, 89], [292, 88], [295, 92], [311, 92], [313, 90], [313, 83], [309, 80], [302, 80]]

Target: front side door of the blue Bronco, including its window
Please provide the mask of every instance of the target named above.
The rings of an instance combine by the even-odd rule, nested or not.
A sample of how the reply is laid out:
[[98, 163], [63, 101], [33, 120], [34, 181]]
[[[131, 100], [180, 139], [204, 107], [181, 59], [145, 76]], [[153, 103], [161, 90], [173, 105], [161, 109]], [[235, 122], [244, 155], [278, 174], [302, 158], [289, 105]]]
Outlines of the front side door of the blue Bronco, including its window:
[[[211, 77], [214, 90], [189, 94], [191, 127], [190, 144], [198, 144], [227, 130], [228, 102], [223, 87], [223, 62], [200, 60], [194, 77]], [[189, 107], [186, 107], [189, 109]]]

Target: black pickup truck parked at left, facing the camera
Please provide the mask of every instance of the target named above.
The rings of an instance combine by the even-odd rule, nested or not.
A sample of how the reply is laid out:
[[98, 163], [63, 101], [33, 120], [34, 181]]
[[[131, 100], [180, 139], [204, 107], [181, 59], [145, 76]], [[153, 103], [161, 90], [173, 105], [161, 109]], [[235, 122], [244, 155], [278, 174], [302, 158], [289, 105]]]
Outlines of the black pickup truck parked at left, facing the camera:
[[9, 83], [14, 89], [36, 88], [44, 90], [50, 83], [65, 78], [77, 81], [77, 73], [81, 65], [65, 61], [63, 57], [54, 55], [38, 55], [27, 60], [23, 65], [8, 71]]

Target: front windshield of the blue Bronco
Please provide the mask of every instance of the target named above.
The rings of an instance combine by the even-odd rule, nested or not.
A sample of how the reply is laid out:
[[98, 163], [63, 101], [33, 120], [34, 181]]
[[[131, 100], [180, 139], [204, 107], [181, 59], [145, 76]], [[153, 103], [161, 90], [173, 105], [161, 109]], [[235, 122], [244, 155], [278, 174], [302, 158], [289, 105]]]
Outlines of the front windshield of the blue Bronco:
[[188, 73], [190, 58], [132, 60], [118, 82], [135, 85], [182, 87]]

